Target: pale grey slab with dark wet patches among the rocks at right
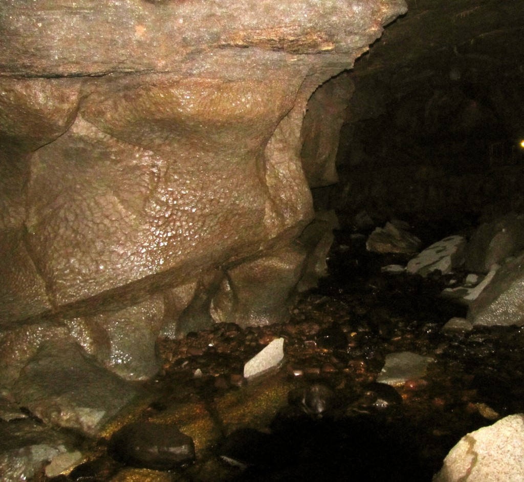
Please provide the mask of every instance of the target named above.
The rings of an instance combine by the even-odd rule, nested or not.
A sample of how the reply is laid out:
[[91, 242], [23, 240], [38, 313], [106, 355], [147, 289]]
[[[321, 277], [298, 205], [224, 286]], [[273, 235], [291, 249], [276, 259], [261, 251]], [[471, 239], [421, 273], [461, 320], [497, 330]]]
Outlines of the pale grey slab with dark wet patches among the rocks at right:
[[407, 266], [408, 273], [427, 276], [432, 271], [450, 273], [464, 258], [466, 239], [463, 236], [449, 236], [432, 244], [413, 258]]

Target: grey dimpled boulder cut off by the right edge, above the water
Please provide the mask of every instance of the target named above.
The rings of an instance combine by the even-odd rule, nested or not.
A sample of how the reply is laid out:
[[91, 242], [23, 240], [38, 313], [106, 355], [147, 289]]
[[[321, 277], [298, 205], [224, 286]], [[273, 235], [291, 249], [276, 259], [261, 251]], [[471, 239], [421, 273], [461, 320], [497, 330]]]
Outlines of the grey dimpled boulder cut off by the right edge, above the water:
[[508, 261], [472, 302], [473, 325], [524, 325], [524, 254]]

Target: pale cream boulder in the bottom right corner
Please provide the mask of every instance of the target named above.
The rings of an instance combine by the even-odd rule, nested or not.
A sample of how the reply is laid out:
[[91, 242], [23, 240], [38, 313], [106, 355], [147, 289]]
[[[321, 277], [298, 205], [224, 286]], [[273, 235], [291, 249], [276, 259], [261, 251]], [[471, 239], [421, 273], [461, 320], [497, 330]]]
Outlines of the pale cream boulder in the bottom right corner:
[[524, 415], [520, 413], [462, 437], [433, 482], [521, 482], [522, 460]]

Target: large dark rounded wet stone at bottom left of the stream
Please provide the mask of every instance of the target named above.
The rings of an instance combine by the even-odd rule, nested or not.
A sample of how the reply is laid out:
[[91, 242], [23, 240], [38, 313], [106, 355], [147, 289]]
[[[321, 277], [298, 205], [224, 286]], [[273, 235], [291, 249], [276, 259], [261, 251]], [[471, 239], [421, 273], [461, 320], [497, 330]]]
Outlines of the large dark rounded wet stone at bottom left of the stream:
[[193, 439], [172, 423], [125, 425], [111, 437], [108, 453], [126, 465], [154, 470], [171, 470], [195, 458]]

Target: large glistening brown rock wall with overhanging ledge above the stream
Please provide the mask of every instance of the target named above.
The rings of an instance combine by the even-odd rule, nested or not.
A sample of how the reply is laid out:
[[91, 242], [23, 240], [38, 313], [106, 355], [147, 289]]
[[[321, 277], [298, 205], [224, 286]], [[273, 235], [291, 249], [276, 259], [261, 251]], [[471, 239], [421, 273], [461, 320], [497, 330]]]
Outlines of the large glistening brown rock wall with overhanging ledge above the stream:
[[[211, 321], [221, 281], [209, 273], [288, 249], [311, 221], [308, 99], [405, 11], [403, 0], [3, 2], [0, 326], [65, 320], [106, 366], [148, 376], [142, 335], [150, 349], [162, 323]], [[177, 298], [180, 286], [191, 288]], [[125, 341], [130, 326], [142, 335]], [[117, 353], [144, 362], [123, 368]]]

